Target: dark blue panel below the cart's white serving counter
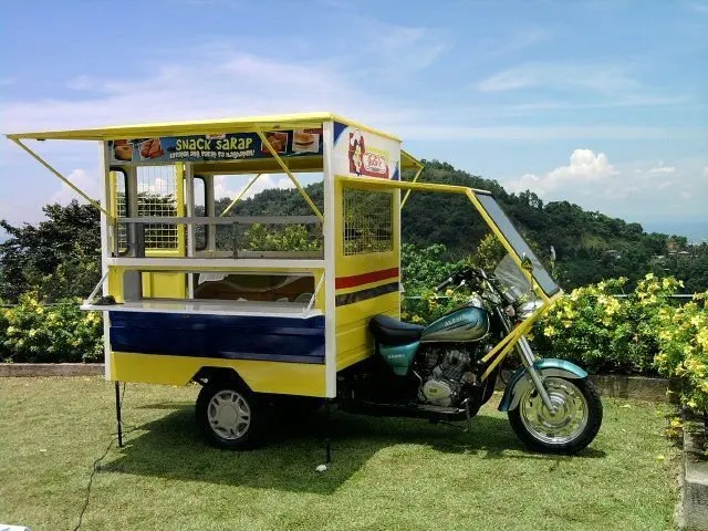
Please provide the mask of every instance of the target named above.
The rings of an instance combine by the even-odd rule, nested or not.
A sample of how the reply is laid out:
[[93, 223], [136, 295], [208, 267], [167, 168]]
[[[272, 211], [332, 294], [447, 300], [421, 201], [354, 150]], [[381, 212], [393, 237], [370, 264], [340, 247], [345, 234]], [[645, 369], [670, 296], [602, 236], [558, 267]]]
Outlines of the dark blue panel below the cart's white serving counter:
[[324, 363], [324, 316], [110, 312], [111, 347], [171, 356]]

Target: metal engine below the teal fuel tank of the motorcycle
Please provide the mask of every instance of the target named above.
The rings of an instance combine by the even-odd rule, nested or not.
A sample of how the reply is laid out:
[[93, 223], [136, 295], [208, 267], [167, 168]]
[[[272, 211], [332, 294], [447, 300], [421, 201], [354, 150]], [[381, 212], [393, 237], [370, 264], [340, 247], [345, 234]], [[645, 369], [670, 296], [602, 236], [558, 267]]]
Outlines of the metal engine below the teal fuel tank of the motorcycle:
[[435, 406], [452, 405], [462, 387], [470, 355], [460, 351], [430, 348], [425, 354], [426, 377], [421, 386], [425, 402]]

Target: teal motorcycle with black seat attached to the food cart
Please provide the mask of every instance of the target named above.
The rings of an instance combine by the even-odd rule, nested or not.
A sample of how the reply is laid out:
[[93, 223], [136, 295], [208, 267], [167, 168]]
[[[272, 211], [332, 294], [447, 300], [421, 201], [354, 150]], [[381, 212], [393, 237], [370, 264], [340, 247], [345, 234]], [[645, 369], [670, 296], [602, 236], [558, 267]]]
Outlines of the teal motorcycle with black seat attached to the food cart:
[[386, 315], [369, 321], [375, 355], [339, 375], [340, 407], [469, 426], [491, 398], [501, 362], [516, 348], [522, 366], [509, 378], [499, 410], [507, 412], [517, 436], [541, 452], [575, 454], [590, 445], [602, 424], [597, 389], [581, 367], [533, 352], [522, 332], [548, 304], [534, 296], [512, 257], [491, 274], [480, 268], [459, 271], [436, 291], [452, 285], [469, 290], [467, 303], [427, 326]]

